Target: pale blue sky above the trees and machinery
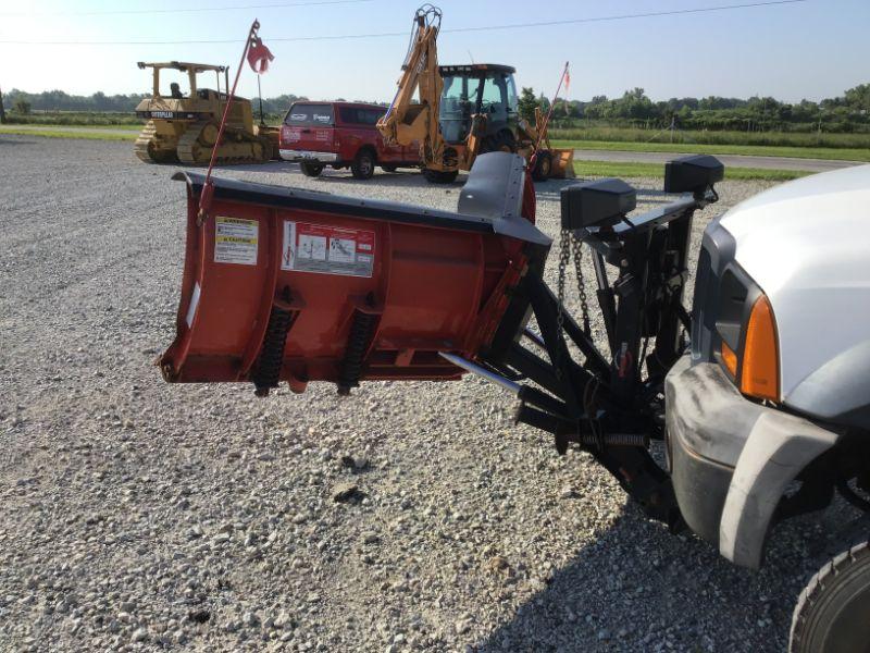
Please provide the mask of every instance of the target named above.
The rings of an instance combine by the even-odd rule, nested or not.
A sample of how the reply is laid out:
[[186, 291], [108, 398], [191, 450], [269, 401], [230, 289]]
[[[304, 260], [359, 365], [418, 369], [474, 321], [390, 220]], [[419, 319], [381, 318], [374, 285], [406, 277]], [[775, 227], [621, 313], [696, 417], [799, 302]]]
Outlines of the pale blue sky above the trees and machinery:
[[[294, 0], [287, 0], [293, 2]], [[296, 0], [318, 2], [323, 0]], [[448, 29], [697, 9], [753, 0], [440, 0], [442, 63], [508, 63], [520, 86], [551, 95], [566, 60], [571, 99], [618, 96], [641, 86], [654, 99], [756, 94], [796, 101], [840, 95], [870, 82], [870, 0], [808, 0], [756, 9], [492, 32]], [[78, 12], [274, 4], [281, 0], [0, 0], [0, 41], [244, 39], [254, 17], [275, 54], [263, 94], [388, 100], [421, 0], [229, 11], [84, 15]], [[76, 13], [73, 13], [76, 12]], [[24, 15], [14, 15], [24, 14]], [[276, 38], [401, 33], [315, 41]], [[187, 60], [237, 65], [239, 44], [36, 46], [0, 42], [0, 87], [28, 91], [147, 93], [136, 61]], [[256, 94], [246, 70], [240, 93]]]

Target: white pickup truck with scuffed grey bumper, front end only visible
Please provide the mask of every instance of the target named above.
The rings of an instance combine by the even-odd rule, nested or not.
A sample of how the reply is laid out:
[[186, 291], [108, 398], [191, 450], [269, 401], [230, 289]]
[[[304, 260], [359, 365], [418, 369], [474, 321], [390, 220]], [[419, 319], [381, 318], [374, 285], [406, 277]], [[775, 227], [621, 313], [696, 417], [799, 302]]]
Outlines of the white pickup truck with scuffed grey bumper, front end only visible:
[[[758, 567], [770, 526], [870, 490], [870, 165], [784, 184], [707, 227], [691, 353], [666, 382], [689, 528]], [[810, 580], [791, 649], [870, 650], [870, 528]]]

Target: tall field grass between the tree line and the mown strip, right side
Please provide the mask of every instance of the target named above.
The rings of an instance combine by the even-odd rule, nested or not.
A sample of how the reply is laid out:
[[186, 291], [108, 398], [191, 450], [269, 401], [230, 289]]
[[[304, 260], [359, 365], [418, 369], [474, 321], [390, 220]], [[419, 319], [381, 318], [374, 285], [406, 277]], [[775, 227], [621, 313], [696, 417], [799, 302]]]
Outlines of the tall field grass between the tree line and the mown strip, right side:
[[[588, 126], [579, 128], [551, 128], [550, 138], [557, 140], [597, 140], [620, 143], [648, 143], [670, 145], [670, 134], [659, 130], [633, 127]], [[816, 132], [711, 132], [678, 131], [674, 144], [685, 145], [750, 145], [763, 147], [809, 147], [834, 149], [870, 149], [870, 134], [828, 134]]]

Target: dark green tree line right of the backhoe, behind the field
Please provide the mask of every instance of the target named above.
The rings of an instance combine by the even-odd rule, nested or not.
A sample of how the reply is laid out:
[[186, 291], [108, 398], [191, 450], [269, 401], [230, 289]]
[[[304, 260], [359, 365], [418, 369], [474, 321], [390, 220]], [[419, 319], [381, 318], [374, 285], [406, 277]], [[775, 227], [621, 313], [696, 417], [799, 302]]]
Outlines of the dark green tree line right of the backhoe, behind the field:
[[[534, 111], [547, 111], [550, 101], [536, 96], [533, 88], [523, 88], [520, 113], [534, 120]], [[836, 98], [820, 102], [781, 102], [771, 97], [749, 99], [671, 98], [654, 101], [643, 88], [626, 90], [620, 98], [596, 96], [589, 101], [557, 98], [554, 126], [572, 127], [583, 121], [597, 121], [612, 126], [744, 132], [870, 132], [870, 84], [861, 84]]]

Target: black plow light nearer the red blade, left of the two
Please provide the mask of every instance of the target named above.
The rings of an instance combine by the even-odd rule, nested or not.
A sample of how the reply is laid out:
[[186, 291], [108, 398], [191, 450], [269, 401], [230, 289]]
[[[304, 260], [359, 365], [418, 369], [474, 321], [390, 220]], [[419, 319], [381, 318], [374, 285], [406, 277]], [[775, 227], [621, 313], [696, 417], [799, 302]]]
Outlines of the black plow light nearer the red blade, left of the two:
[[612, 226], [637, 206], [637, 193], [622, 180], [606, 178], [562, 188], [562, 229]]

